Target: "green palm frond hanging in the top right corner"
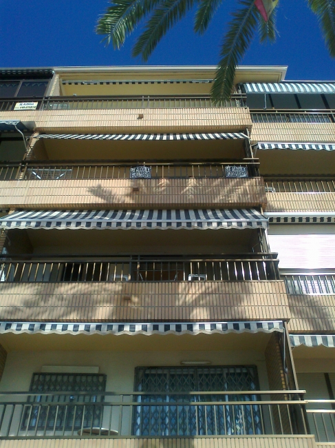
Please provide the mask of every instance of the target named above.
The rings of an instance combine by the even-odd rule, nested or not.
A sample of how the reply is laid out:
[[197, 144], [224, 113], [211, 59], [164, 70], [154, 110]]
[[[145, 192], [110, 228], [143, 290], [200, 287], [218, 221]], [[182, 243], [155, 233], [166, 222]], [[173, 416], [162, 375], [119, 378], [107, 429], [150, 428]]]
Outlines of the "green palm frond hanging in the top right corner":
[[335, 1], [308, 0], [308, 4], [318, 17], [330, 56], [335, 57]]

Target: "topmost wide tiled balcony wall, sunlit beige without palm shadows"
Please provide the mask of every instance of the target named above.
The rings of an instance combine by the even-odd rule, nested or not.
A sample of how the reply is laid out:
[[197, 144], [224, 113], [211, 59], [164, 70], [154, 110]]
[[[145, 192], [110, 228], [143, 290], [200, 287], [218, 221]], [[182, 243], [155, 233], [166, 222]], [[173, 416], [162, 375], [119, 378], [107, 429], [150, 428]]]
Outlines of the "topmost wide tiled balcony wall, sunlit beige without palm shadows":
[[[138, 116], [143, 114], [143, 119]], [[0, 112], [0, 119], [34, 121], [59, 133], [238, 132], [251, 128], [248, 108], [36, 110]]]

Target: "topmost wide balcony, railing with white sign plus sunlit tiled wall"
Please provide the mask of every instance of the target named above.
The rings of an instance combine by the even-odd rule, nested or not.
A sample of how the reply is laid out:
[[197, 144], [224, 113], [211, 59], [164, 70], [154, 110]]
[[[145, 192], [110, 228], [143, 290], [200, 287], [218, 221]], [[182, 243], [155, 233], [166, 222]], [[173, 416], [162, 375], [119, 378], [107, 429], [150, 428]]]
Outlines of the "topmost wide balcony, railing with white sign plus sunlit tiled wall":
[[[210, 96], [52, 96], [36, 101], [36, 110], [14, 110], [16, 103], [32, 99], [0, 102], [1, 119], [35, 121], [45, 132], [195, 132], [251, 128], [245, 97], [235, 94], [222, 107]], [[140, 118], [139, 118], [140, 117]]]

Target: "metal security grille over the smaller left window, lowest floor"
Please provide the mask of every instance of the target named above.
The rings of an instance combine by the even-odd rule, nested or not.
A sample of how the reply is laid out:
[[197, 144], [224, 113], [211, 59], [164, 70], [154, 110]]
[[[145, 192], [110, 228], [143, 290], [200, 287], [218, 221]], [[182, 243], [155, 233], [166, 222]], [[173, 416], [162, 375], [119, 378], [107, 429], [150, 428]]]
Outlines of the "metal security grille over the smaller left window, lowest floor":
[[[85, 427], [99, 427], [102, 420], [102, 407], [86, 403], [97, 403], [102, 396], [76, 395], [76, 392], [105, 391], [106, 376], [99, 374], [33, 374], [30, 391], [50, 392], [50, 395], [28, 397], [28, 401], [45, 403], [27, 406], [23, 413], [21, 430], [67, 430], [77, 431]], [[56, 392], [57, 395], [52, 395]], [[59, 395], [60, 392], [73, 392], [73, 395]], [[66, 406], [48, 406], [47, 403], [66, 403]], [[80, 403], [80, 404], [78, 404]]]

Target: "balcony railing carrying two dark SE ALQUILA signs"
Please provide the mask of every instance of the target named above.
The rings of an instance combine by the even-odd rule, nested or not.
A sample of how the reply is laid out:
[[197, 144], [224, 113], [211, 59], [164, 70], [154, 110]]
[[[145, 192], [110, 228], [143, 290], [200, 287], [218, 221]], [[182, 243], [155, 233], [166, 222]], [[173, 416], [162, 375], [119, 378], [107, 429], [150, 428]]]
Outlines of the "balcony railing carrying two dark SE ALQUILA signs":
[[[232, 162], [101, 162], [91, 161], [32, 161], [1, 163], [0, 180], [58, 180], [58, 179], [131, 179], [131, 167], [145, 165], [149, 179], [221, 179], [233, 178], [236, 170], [243, 169], [248, 177], [259, 176], [259, 163], [253, 159]], [[241, 167], [241, 168], [240, 168]], [[233, 173], [233, 174], [232, 174]], [[238, 176], [238, 174], [237, 174]]]

